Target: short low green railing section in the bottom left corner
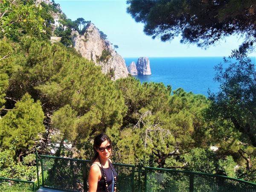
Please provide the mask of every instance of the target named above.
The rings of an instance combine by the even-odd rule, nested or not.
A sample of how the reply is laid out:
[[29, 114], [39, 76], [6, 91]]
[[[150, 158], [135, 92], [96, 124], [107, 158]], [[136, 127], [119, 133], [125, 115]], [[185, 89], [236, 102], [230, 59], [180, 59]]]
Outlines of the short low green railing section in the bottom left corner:
[[35, 182], [0, 177], [0, 192], [35, 192]]

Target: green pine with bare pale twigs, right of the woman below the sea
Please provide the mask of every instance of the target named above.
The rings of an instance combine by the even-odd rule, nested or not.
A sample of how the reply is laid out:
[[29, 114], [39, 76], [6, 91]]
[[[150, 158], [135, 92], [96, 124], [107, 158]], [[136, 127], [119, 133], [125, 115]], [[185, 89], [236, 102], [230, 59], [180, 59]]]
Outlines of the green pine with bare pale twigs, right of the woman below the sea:
[[119, 151], [125, 154], [122, 157], [125, 162], [157, 163], [163, 167], [167, 158], [179, 157], [207, 139], [207, 132], [204, 132], [207, 126], [202, 117], [208, 106], [204, 96], [182, 89], [170, 95], [171, 88], [162, 83], [140, 84], [133, 77], [117, 80], [116, 85], [129, 106], [122, 140], [118, 143]]

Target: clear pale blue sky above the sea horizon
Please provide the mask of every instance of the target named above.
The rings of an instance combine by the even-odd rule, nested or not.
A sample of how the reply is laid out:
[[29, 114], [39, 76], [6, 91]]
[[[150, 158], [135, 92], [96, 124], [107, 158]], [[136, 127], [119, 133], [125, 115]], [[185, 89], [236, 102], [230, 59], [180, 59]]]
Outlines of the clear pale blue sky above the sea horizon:
[[[83, 17], [91, 20], [108, 35], [111, 43], [119, 46], [122, 57], [206, 57], [228, 56], [231, 49], [238, 48], [242, 39], [235, 36], [220, 41], [207, 50], [196, 45], [180, 44], [175, 38], [170, 42], [152, 39], [143, 33], [143, 23], [136, 23], [126, 13], [126, 0], [55, 0], [68, 18]], [[251, 56], [254, 56], [251, 54]]]

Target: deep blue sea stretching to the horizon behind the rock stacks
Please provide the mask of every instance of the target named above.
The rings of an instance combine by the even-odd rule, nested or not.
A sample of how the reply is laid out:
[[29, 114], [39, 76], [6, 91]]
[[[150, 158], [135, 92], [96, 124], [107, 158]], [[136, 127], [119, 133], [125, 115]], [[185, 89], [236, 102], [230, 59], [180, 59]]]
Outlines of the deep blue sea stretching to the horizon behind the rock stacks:
[[[125, 58], [128, 66], [138, 58]], [[255, 58], [254, 58], [255, 60]], [[182, 87], [185, 91], [208, 96], [208, 89], [216, 93], [219, 90], [214, 66], [223, 63], [223, 57], [184, 57], [184, 58], [149, 58], [151, 76], [135, 76], [141, 82], [163, 82], [171, 85], [172, 90]]]

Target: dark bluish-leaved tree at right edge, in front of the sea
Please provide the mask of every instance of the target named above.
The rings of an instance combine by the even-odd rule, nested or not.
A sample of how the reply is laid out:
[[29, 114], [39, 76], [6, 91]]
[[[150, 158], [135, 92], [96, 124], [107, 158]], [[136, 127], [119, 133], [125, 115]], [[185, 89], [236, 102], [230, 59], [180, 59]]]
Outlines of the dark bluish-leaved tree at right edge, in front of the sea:
[[215, 80], [220, 82], [221, 90], [209, 97], [209, 116], [231, 121], [245, 140], [256, 147], [256, 67], [239, 51], [233, 51], [224, 62], [229, 64], [225, 70], [222, 64], [216, 66]]

